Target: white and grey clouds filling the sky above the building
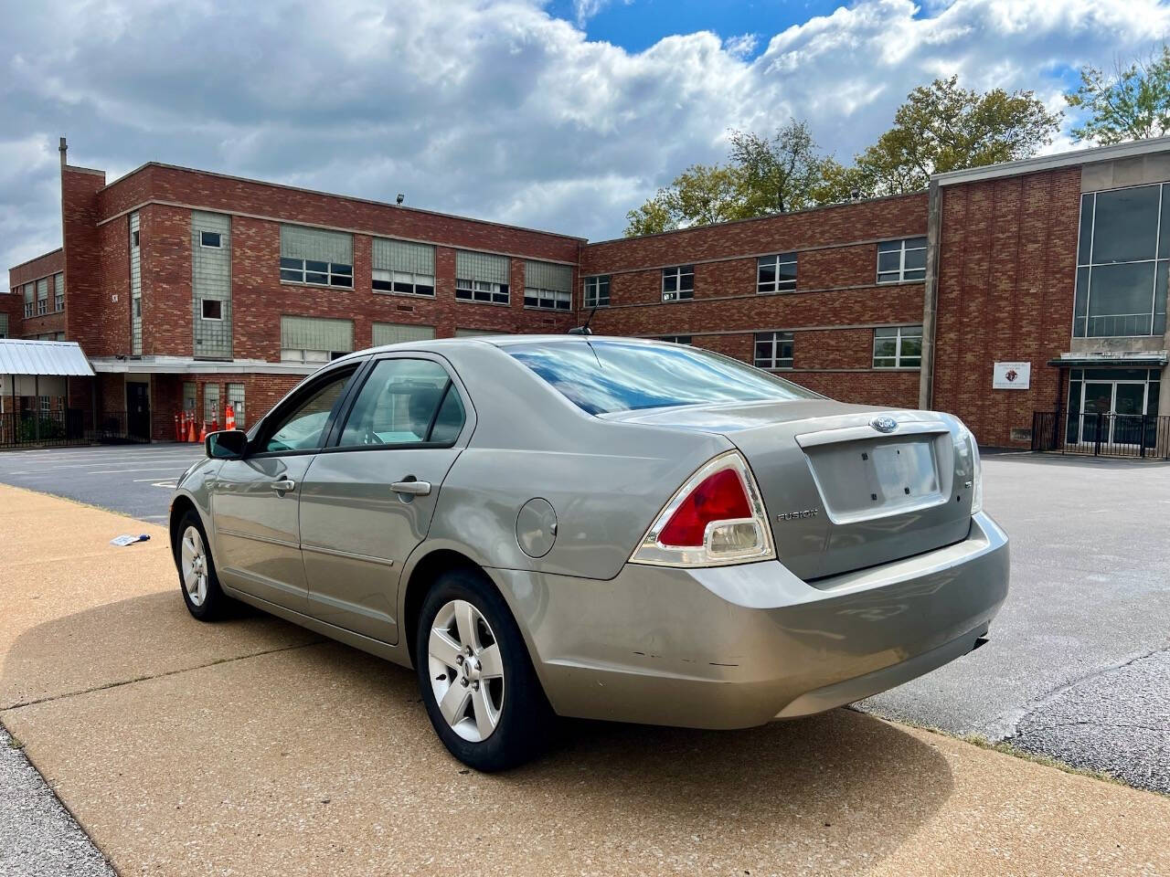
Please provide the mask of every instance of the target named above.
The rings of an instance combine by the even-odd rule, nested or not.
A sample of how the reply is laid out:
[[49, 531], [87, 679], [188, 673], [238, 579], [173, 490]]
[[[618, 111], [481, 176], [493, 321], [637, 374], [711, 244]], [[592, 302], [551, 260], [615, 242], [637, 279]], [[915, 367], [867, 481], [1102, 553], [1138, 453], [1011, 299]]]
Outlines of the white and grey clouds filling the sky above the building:
[[847, 159], [936, 76], [1059, 108], [1058, 75], [1166, 32], [1155, 0], [859, 0], [752, 57], [707, 32], [628, 53], [542, 0], [26, 4], [0, 35], [0, 257], [56, 246], [58, 133], [111, 178], [157, 159], [598, 239], [729, 127], [807, 118]]

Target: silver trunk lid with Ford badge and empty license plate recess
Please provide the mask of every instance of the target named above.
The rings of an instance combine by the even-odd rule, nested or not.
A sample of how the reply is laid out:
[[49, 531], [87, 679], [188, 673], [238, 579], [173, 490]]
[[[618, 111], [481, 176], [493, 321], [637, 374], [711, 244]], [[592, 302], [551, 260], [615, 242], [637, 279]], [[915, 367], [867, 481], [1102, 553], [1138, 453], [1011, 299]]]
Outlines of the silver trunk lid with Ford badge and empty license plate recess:
[[759, 484], [780, 561], [805, 580], [950, 545], [970, 529], [970, 463], [955, 421], [938, 414], [796, 400], [607, 416], [727, 436]]

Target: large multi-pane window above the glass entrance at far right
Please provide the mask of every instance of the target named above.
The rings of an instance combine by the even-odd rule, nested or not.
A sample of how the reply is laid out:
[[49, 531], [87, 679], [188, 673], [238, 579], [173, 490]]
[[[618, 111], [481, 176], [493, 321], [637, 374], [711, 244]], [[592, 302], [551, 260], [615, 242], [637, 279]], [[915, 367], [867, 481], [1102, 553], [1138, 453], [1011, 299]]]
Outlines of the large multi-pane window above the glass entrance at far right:
[[1081, 195], [1075, 338], [1161, 336], [1166, 329], [1170, 187]]

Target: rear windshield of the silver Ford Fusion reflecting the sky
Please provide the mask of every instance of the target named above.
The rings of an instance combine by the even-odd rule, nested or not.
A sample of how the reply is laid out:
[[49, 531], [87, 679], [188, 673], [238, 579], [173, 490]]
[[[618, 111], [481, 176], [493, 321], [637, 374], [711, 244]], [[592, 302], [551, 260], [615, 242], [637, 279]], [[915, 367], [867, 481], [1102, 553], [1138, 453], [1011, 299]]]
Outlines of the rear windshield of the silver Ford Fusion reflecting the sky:
[[683, 345], [598, 339], [509, 344], [503, 350], [590, 414], [821, 398], [738, 360]]

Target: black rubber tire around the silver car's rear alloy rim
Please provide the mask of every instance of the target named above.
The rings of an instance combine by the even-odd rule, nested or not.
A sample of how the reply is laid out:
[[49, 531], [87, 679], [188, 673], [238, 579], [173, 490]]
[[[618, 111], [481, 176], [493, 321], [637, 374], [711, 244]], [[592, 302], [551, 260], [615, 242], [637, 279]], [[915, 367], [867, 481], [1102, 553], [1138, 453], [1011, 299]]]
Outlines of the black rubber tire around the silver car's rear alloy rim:
[[[431, 678], [428, 647], [432, 626], [440, 610], [459, 600], [472, 603], [482, 615], [500, 649], [503, 664], [498, 721], [495, 730], [480, 741], [464, 739], [443, 718]], [[468, 767], [484, 773], [507, 771], [531, 760], [544, 750], [552, 730], [552, 710], [508, 605], [483, 573], [476, 569], [450, 569], [439, 575], [419, 612], [414, 667], [422, 703], [426, 704], [435, 733], [447, 751]], [[452, 679], [452, 689], [457, 684], [457, 679]]]

